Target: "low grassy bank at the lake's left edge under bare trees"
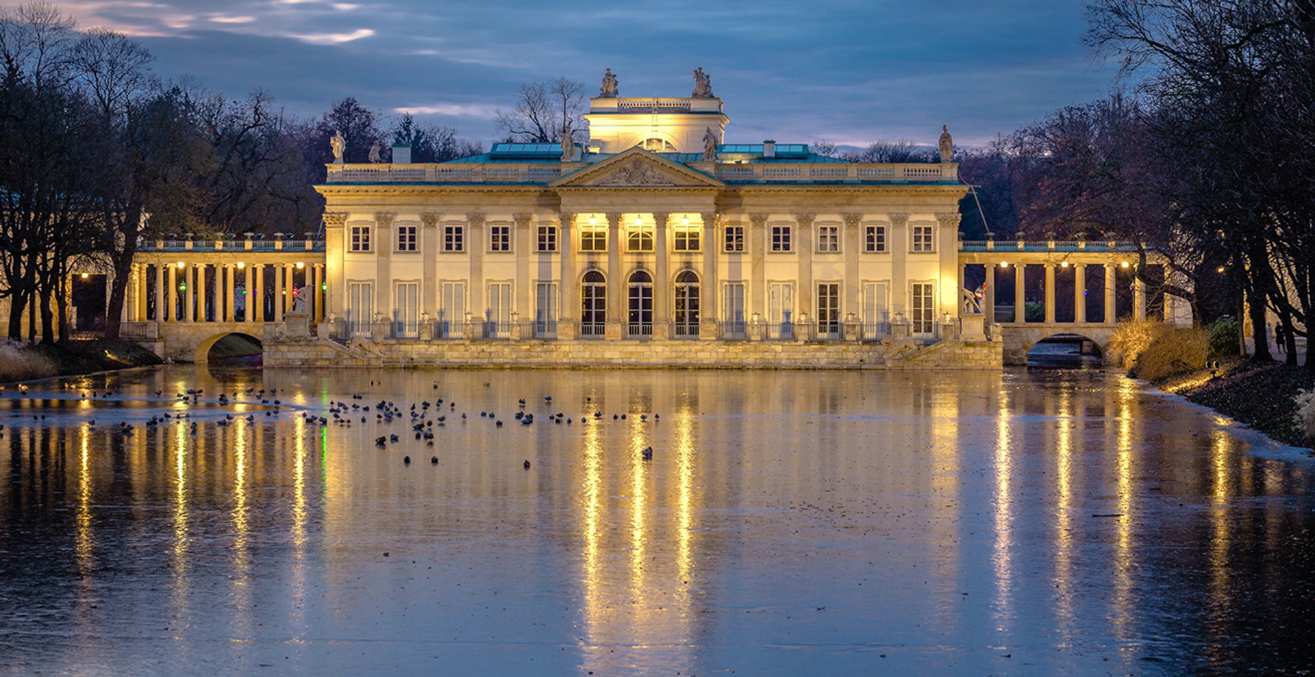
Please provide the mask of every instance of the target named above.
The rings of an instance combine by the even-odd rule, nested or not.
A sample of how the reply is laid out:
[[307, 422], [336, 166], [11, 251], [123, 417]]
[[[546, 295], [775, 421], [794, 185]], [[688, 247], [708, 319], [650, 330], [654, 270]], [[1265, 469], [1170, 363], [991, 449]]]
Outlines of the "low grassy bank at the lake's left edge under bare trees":
[[124, 340], [66, 340], [54, 346], [0, 346], [0, 383], [74, 376], [159, 364], [154, 352]]

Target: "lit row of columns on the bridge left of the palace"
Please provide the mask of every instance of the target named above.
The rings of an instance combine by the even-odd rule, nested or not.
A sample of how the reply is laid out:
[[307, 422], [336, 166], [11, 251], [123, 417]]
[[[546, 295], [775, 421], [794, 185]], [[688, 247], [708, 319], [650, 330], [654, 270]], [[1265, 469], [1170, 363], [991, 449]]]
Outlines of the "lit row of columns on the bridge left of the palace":
[[323, 263], [134, 263], [125, 315], [134, 322], [281, 322], [297, 291], [306, 289], [306, 310], [318, 319], [323, 283]]

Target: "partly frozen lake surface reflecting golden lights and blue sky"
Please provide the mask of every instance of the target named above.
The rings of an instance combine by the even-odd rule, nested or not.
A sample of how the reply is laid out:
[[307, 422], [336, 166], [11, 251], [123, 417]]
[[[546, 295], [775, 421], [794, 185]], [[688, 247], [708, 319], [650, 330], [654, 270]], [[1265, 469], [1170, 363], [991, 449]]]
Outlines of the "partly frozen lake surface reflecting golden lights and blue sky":
[[176, 365], [0, 423], [3, 674], [1315, 668], [1308, 465], [1107, 372]]

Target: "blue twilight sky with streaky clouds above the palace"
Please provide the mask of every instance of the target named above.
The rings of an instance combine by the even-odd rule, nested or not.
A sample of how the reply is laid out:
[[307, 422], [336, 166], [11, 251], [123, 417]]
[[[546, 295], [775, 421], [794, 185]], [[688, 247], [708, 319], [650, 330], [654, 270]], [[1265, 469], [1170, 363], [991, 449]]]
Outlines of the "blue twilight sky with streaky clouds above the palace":
[[[0, 0], [13, 7], [17, 0]], [[64, 0], [80, 28], [138, 37], [162, 76], [318, 116], [345, 96], [488, 142], [523, 82], [689, 96], [701, 66], [729, 142], [981, 145], [1102, 96], [1078, 0]]]

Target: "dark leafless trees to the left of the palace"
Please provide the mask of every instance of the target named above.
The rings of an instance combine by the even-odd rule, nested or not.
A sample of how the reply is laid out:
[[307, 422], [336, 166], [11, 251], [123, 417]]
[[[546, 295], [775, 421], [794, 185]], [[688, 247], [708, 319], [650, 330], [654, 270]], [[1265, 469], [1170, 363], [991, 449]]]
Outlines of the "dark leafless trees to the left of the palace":
[[113, 269], [107, 333], [116, 337], [139, 239], [246, 233], [302, 237], [321, 226], [329, 137], [347, 162], [380, 145], [412, 146], [413, 162], [480, 152], [451, 128], [387, 120], [354, 99], [320, 118], [284, 113], [256, 91], [229, 99], [191, 79], [162, 80], [133, 39], [78, 30], [58, 8], [0, 8], [0, 297], [9, 338], [36, 304], [43, 342], [68, 335], [71, 263]]

